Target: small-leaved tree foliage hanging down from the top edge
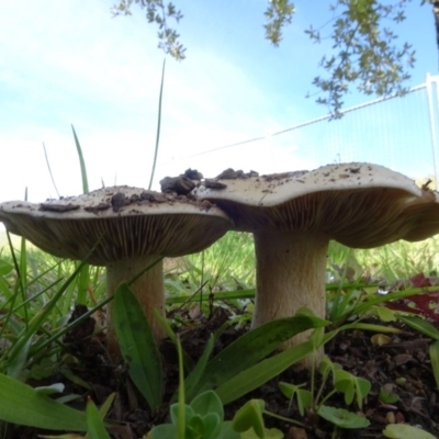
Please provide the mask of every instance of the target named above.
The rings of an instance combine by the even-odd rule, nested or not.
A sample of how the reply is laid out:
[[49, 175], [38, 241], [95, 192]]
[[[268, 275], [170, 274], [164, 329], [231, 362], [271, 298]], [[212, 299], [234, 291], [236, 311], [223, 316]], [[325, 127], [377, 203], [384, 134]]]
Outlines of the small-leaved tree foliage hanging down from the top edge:
[[[303, 0], [306, 1], [306, 0]], [[394, 32], [395, 24], [405, 20], [405, 8], [410, 0], [334, 0], [328, 4], [331, 19], [320, 27], [313, 25], [306, 34], [315, 43], [333, 42], [330, 53], [320, 60], [324, 70], [313, 80], [319, 90], [317, 103], [328, 108], [333, 117], [342, 115], [344, 97], [350, 87], [357, 87], [364, 94], [380, 97], [403, 95], [407, 89], [409, 69], [415, 63], [415, 50], [408, 43], [401, 44]], [[146, 9], [148, 23], [158, 25], [158, 46], [177, 60], [185, 57], [185, 47], [180, 35], [169, 26], [183, 18], [173, 3], [162, 0], [119, 0], [113, 14], [131, 14], [133, 3]], [[420, 0], [430, 3], [436, 19], [439, 47], [439, 1]], [[291, 24], [294, 4], [290, 0], [269, 0], [264, 12], [266, 37], [278, 46], [282, 30]]]

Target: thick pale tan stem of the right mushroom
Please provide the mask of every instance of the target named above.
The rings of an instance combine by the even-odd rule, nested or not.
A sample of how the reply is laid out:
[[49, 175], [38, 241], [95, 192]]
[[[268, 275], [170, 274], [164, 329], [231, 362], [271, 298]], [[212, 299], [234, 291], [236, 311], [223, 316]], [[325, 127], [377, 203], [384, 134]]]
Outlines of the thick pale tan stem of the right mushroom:
[[[256, 232], [256, 304], [252, 328], [291, 317], [306, 306], [325, 318], [325, 272], [329, 239], [311, 232]], [[301, 333], [284, 348], [307, 340]]]

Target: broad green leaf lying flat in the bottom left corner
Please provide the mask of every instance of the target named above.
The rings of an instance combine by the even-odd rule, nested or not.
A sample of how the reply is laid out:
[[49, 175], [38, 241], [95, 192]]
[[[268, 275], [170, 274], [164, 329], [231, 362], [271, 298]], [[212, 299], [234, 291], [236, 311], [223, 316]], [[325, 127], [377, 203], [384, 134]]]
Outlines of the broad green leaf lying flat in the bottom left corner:
[[0, 373], [0, 419], [48, 430], [86, 431], [86, 414]]

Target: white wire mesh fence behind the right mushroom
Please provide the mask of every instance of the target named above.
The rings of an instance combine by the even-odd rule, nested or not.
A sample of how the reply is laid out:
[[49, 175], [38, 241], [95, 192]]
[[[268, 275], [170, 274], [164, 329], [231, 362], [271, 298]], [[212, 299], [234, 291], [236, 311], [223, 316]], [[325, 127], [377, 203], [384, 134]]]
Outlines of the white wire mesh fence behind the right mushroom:
[[[249, 170], [249, 165], [270, 165], [257, 171], [317, 168], [330, 162], [369, 161], [413, 178], [437, 177], [439, 133], [439, 77], [403, 98], [375, 99], [345, 110], [341, 120], [322, 116], [290, 128], [159, 164], [159, 175], [176, 173], [176, 166], [204, 172], [206, 164]], [[249, 159], [251, 158], [251, 159]], [[218, 168], [217, 168], [218, 169]], [[212, 173], [209, 175], [210, 177]]]

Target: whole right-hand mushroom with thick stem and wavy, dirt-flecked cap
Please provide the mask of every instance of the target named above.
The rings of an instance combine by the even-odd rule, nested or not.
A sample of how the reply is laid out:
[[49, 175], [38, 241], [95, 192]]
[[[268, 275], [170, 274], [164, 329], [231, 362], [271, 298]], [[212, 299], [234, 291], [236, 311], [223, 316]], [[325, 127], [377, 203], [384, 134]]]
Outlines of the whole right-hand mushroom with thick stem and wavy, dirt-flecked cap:
[[[371, 248], [439, 233], [438, 194], [379, 165], [205, 180], [193, 193], [251, 232], [256, 252], [252, 327], [307, 306], [325, 317], [328, 244]], [[285, 347], [304, 341], [300, 334]]]

